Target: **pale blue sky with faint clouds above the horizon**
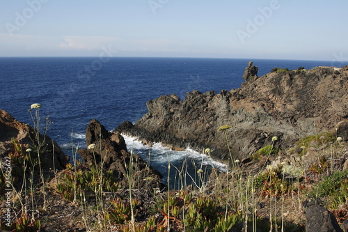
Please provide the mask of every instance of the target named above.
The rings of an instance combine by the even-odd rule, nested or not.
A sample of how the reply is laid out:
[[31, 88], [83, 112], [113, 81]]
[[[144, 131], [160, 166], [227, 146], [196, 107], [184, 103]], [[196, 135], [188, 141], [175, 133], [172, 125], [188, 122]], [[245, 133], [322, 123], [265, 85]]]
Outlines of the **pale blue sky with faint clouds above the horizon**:
[[[347, 0], [0, 0], [0, 56], [348, 60]], [[347, 58], [346, 58], [347, 56]]]

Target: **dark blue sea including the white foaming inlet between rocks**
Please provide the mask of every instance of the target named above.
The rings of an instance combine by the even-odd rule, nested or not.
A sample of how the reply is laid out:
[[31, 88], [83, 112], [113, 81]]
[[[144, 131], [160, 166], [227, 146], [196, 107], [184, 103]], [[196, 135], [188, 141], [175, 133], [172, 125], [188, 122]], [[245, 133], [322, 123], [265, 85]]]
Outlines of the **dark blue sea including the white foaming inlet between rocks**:
[[[0, 58], [0, 109], [17, 120], [31, 123], [31, 104], [40, 103], [42, 126], [45, 117], [53, 123], [47, 134], [72, 155], [72, 148], [85, 146], [88, 122], [96, 118], [107, 130], [114, 130], [123, 121], [133, 123], [147, 112], [146, 102], [160, 95], [175, 93], [184, 99], [187, 92], [230, 91], [244, 82], [242, 75], [249, 61], [259, 67], [258, 75], [272, 68], [331, 65], [331, 61], [290, 61], [258, 59], [193, 59], [193, 58], [111, 58], [42, 57]], [[174, 152], [157, 144], [142, 146], [127, 138], [129, 150], [148, 160], [164, 174], [168, 160], [182, 166], [187, 157], [196, 167], [209, 169], [212, 161], [191, 150]], [[156, 158], [155, 158], [156, 157]], [[194, 167], [189, 166], [190, 170]], [[215, 163], [220, 169], [223, 164]], [[175, 171], [172, 171], [171, 178]], [[194, 171], [192, 172], [194, 173]]]

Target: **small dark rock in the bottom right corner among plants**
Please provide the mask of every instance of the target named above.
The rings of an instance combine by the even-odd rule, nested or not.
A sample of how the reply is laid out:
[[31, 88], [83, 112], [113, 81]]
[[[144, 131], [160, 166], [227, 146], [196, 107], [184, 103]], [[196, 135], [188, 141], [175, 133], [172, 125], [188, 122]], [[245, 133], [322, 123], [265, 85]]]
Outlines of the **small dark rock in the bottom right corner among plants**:
[[324, 206], [306, 208], [306, 231], [308, 232], [342, 232], [335, 217]]

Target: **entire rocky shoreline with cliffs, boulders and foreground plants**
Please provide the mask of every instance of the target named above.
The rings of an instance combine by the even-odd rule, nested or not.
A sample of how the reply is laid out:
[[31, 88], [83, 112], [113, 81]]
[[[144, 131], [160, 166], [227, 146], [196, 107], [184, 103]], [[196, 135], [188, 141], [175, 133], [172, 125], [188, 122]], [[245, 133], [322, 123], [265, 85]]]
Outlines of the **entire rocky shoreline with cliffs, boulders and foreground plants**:
[[[79, 162], [0, 110], [0, 229], [347, 231], [348, 66], [257, 73], [249, 63], [241, 88], [219, 94], [162, 95], [135, 125], [126, 121], [113, 132], [93, 119]], [[129, 152], [120, 132], [222, 162], [230, 148], [234, 169], [212, 170], [200, 187], [167, 191], [161, 173]], [[195, 172], [199, 179], [205, 171]]]

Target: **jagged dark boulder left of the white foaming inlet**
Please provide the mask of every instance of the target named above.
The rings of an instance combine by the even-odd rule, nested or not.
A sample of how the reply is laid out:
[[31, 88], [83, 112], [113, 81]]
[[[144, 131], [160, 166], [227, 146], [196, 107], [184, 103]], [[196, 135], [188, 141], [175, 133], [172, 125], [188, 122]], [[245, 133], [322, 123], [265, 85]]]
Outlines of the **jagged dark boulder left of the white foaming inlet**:
[[[86, 129], [86, 145], [95, 144], [93, 149], [79, 149], [78, 153], [88, 163], [103, 165], [103, 169], [113, 171], [118, 178], [120, 186], [128, 187], [127, 176], [129, 175], [129, 161], [131, 154], [127, 152], [125, 139], [116, 132], [108, 132], [103, 125], [93, 119]], [[161, 183], [161, 174], [148, 167], [139, 155], [133, 154], [133, 176], [134, 187], [145, 187], [151, 190], [165, 186]]]

